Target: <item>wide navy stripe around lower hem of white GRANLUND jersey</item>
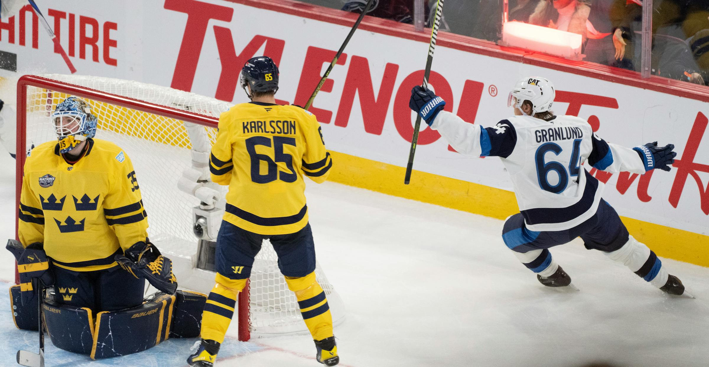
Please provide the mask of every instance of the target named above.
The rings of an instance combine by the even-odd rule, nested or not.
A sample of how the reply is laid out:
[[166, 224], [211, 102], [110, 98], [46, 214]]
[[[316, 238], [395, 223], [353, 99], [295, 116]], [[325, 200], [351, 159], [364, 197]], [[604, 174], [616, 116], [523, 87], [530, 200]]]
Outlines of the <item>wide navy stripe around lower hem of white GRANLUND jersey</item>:
[[520, 210], [520, 213], [525, 216], [527, 225], [563, 223], [588, 212], [588, 209], [593, 206], [593, 201], [596, 198], [598, 180], [596, 177], [588, 174], [588, 171], [585, 169], [584, 174], [586, 174], [586, 187], [584, 188], [584, 196], [581, 196], [578, 202], [566, 208], [533, 208]]

